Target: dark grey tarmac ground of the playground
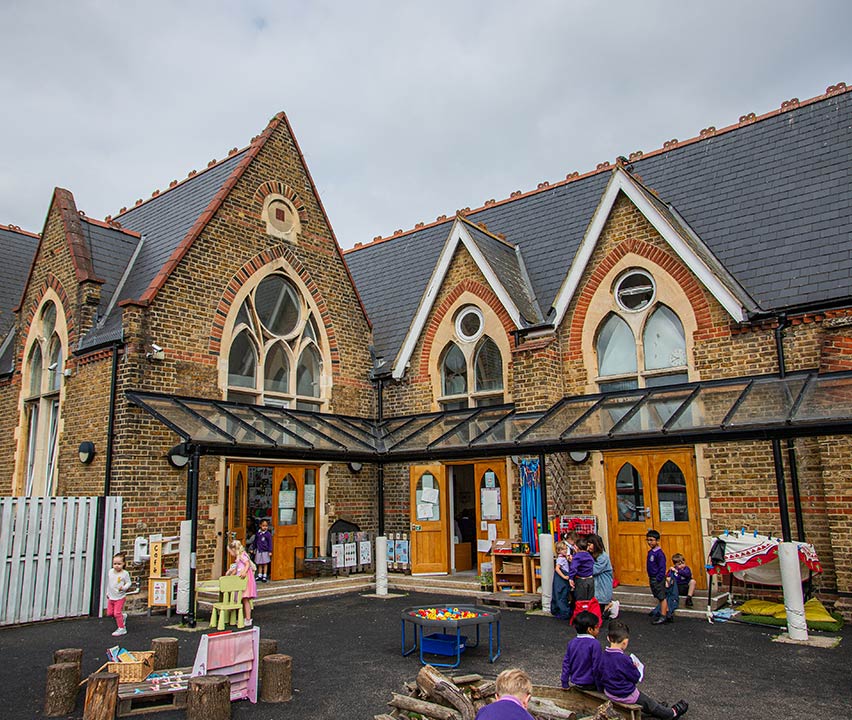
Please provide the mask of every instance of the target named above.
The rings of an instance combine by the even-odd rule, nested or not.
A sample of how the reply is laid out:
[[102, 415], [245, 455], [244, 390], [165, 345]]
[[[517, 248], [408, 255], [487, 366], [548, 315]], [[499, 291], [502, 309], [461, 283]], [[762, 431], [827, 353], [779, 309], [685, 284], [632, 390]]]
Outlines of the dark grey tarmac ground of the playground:
[[[391, 692], [399, 692], [421, 667], [418, 653], [402, 656], [400, 612], [410, 606], [461, 602], [434, 594], [379, 599], [351, 593], [256, 608], [261, 637], [275, 638], [278, 651], [293, 658], [293, 699], [280, 705], [235, 702], [233, 717], [371, 720], [388, 711]], [[828, 634], [842, 640], [825, 649], [773, 642], [777, 628], [694, 619], [652, 626], [647, 616], [632, 613], [621, 619], [630, 626], [630, 651], [645, 663], [640, 689], [669, 703], [685, 698], [687, 717], [693, 720], [852, 716], [848, 628]], [[152, 638], [176, 637], [180, 664], [191, 665], [207, 622], [202, 619], [196, 631], [175, 629], [175, 622], [163, 614], [131, 616], [122, 645], [146, 650]], [[115, 644], [110, 635], [114, 628], [111, 618], [83, 618], [0, 629], [0, 718], [44, 717], [45, 673], [53, 651], [83, 648], [85, 676], [102, 665], [106, 648]], [[566, 623], [504, 610], [501, 634], [502, 655], [495, 663], [488, 662], [484, 633], [485, 642], [462, 655], [460, 669], [493, 677], [521, 667], [536, 683], [559, 684], [565, 644], [573, 636]], [[83, 698], [81, 692], [69, 718], [83, 716]], [[185, 713], [172, 710], [141, 717], [170, 720]]]

